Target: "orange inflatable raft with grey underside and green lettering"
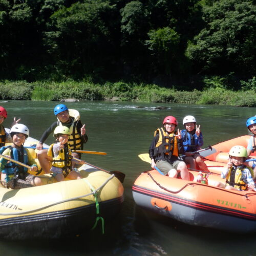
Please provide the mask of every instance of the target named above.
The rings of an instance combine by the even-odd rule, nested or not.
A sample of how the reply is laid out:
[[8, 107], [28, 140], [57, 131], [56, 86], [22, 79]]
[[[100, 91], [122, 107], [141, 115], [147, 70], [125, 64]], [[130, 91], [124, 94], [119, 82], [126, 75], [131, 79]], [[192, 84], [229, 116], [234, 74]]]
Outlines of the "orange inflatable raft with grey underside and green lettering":
[[[226, 168], [229, 149], [247, 146], [250, 136], [242, 136], [212, 146], [205, 163], [210, 174], [209, 185], [196, 182], [198, 172], [189, 172], [190, 181], [169, 178], [150, 170], [142, 173], [133, 185], [137, 205], [178, 221], [230, 232], [256, 231], [256, 193], [226, 190], [214, 186]], [[203, 152], [202, 152], [203, 153]], [[253, 157], [253, 156], [252, 156]], [[221, 160], [221, 161], [220, 161]]]

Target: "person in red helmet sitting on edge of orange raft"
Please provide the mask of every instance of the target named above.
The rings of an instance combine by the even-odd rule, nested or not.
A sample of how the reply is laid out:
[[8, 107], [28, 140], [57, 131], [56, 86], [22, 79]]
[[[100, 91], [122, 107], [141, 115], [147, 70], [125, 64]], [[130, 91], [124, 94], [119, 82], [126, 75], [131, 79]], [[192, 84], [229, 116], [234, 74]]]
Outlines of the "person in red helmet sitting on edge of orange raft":
[[175, 131], [178, 125], [173, 116], [166, 116], [163, 127], [155, 131], [154, 139], [148, 153], [151, 158], [151, 167], [157, 166], [164, 175], [176, 178], [178, 172], [183, 180], [189, 180], [189, 173], [184, 161], [178, 160], [179, 154], [183, 153], [181, 135]]

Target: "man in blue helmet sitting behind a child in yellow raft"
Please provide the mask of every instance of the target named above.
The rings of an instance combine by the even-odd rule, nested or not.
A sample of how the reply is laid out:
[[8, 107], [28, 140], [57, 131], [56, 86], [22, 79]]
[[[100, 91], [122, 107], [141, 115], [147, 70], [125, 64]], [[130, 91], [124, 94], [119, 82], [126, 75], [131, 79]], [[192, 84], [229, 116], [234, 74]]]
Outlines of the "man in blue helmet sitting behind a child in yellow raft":
[[[68, 143], [70, 144], [71, 150], [82, 150], [83, 144], [87, 143], [88, 136], [86, 134], [86, 125], [80, 120], [80, 115], [77, 110], [69, 110], [66, 105], [58, 104], [54, 108], [54, 115], [57, 117], [57, 121], [52, 123], [51, 126], [42, 134], [39, 142], [36, 145], [36, 149], [39, 150], [37, 158], [42, 169], [46, 174], [50, 173], [50, 162], [51, 159], [47, 155], [48, 150], [42, 149], [42, 144], [54, 132], [57, 126], [67, 126], [70, 130], [70, 137]], [[72, 152], [72, 156], [81, 158], [80, 153]]]

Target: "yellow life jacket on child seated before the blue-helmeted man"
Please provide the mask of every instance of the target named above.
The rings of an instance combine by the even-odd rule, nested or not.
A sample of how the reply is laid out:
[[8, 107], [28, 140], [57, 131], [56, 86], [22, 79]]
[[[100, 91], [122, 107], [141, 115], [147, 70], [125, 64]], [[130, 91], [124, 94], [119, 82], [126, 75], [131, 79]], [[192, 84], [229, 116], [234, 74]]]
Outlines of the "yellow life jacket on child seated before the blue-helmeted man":
[[53, 144], [50, 145], [48, 150], [48, 156], [51, 156], [53, 159], [52, 166], [61, 168], [63, 171], [66, 171], [68, 174], [71, 172], [71, 158], [67, 156], [71, 156], [70, 146], [69, 144], [65, 144], [64, 148], [61, 148], [59, 151], [58, 156], [54, 157], [53, 153]]

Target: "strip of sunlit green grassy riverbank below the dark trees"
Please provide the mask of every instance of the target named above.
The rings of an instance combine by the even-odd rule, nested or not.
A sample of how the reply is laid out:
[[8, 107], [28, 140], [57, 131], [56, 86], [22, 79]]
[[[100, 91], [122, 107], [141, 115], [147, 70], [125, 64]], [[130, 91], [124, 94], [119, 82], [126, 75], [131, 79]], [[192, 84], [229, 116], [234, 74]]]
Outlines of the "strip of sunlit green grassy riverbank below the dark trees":
[[[255, 79], [253, 84], [254, 82]], [[162, 88], [155, 84], [132, 84], [122, 81], [104, 84], [74, 80], [32, 83], [26, 81], [0, 82], [0, 99], [59, 101], [65, 98], [256, 106], [255, 88], [254, 86], [246, 87], [246, 84], [240, 91], [227, 90], [216, 85], [203, 91], [178, 91]]]

